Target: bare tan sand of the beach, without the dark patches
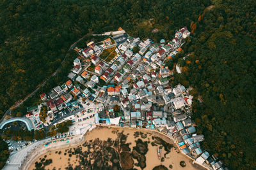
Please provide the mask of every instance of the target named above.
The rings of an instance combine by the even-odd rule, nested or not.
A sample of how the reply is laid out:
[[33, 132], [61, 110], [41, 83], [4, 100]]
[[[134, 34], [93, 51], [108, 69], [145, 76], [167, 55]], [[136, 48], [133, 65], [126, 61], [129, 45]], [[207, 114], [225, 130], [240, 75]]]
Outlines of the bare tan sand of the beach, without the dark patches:
[[[197, 164], [192, 164], [192, 159], [189, 159], [186, 155], [183, 155], [180, 153], [179, 148], [177, 145], [172, 141], [172, 139], [168, 138], [167, 136], [164, 136], [163, 134], [160, 134], [155, 131], [151, 131], [148, 129], [132, 129], [132, 128], [123, 128], [123, 127], [96, 127], [90, 132], [87, 132], [84, 138], [84, 142], [90, 143], [90, 140], [95, 140], [99, 138], [101, 141], [107, 141], [108, 138], [111, 139], [116, 139], [117, 135], [116, 132], [122, 132], [125, 135], [127, 135], [127, 141], [126, 143], [131, 143], [130, 148], [136, 146], [135, 140], [137, 139], [142, 139], [142, 141], [154, 141], [152, 139], [152, 136], [157, 136], [167, 143], [173, 144], [173, 148], [171, 149], [171, 152], [166, 155], [166, 158], [164, 158], [164, 161], [161, 162], [159, 160], [158, 155], [157, 155], [157, 148], [159, 146], [152, 146], [151, 143], [148, 144], [148, 152], [145, 155], [146, 157], [146, 165], [145, 169], [153, 169], [156, 166], [163, 165], [165, 167], [168, 167], [172, 165], [172, 169], [184, 169], [184, 170], [193, 170], [193, 169], [204, 169], [204, 167], [198, 166]], [[135, 138], [134, 132], [143, 132], [143, 134], [147, 134], [147, 138], [143, 139], [141, 136], [138, 138]], [[35, 158], [29, 169], [35, 169], [35, 162], [40, 162], [42, 159], [52, 159], [52, 163], [49, 164], [48, 166], [45, 166], [45, 169], [65, 169], [68, 167], [68, 164], [70, 164], [72, 167], [75, 167], [79, 165], [79, 157], [78, 155], [72, 155], [72, 157], [69, 157], [69, 153], [67, 155], [64, 155], [65, 152], [68, 150], [74, 150], [74, 148], [81, 147], [82, 152], [88, 150], [88, 148], [84, 147], [83, 145], [77, 145], [77, 146], [72, 146], [68, 148], [62, 148], [59, 150], [52, 150], [51, 152], [48, 152], [44, 155], [40, 155], [40, 157]], [[93, 150], [90, 150], [93, 152]], [[56, 153], [57, 152], [57, 153]], [[61, 152], [61, 153], [60, 153]], [[60, 154], [59, 154], [60, 153]], [[164, 148], [161, 149], [161, 157], [164, 157]], [[180, 166], [180, 161], [185, 161], [186, 162], [186, 167], [181, 167]], [[134, 159], [134, 163], [138, 162], [136, 159]], [[141, 167], [134, 166], [136, 169], [141, 169]]]

